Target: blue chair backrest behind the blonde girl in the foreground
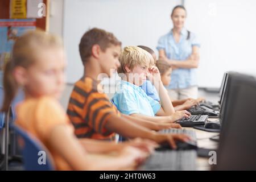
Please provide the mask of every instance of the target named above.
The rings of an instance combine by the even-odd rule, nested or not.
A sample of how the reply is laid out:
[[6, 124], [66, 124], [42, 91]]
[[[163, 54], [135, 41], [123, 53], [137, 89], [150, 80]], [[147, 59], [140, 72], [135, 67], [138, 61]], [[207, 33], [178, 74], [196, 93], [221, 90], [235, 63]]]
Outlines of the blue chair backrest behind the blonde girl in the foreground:
[[49, 171], [54, 170], [54, 163], [47, 148], [34, 136], [18, 126], [11, 125], [18, 134], [18, 143], [23, 155], [25, 170]]

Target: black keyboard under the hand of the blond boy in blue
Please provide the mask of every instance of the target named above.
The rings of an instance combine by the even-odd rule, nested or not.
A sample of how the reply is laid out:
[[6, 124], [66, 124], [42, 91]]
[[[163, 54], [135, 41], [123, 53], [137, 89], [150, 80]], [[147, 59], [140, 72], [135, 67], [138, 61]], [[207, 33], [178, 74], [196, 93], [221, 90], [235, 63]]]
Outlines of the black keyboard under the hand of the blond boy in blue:
[[183, 117], [178, 120], [176, 123], [179, 123], [181, 126], [192, 127], [196, 125], [204, 125], [207, 122], [208, 115], [190, 115], [189, 118]]

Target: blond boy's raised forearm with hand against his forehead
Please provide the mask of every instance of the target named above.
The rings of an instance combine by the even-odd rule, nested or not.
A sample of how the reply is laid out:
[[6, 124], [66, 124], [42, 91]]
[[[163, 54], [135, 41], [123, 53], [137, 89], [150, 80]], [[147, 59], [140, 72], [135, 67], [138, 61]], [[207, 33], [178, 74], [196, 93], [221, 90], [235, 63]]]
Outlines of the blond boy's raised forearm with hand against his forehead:
[[150, 72], [148, 74], [148, 78], [158, 91], [160, 103], [162, 105], [162, 107], [160, 108], [158, 113], [156, 113], [156, 115], [164, 116], [174, 114], [174, 106], [172, 106], [170, 97], [168, 96], [168, 93], [164, 88], [163, 82], [161, 81], [161, 76], [158, 68], [154, 66], [149, 68], [148, 71]]

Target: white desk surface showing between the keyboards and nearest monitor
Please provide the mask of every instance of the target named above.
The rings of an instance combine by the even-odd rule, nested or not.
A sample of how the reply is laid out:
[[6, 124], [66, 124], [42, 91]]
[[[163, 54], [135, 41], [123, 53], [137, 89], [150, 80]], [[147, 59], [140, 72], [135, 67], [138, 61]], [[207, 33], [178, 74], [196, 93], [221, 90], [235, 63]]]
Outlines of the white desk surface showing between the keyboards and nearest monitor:
[[[216, 121], [216, 118], [209, 118], [208, 121]], [[219, 133], [213, 133], [203, 130], [197, 130], [193, 129], [191, 127], [184, 127], [187, 130], [194, 130], [196, 132], [196, 138], [197, 138], [197, 146], [200, 148], [209, 148], [209, 149], [217, 149], [218, 142], [214, 142], [213, 140], [210, 140], [210, 137], [213, 137], [215, 135], [218, 135]], [[210, 157], [210, 156], [209, 156]], [[210, 164], [208, 162], [209, 158], [201, 158], [197, 157], [197, 170], [199, 171], [207, 171], [210, 170]]]

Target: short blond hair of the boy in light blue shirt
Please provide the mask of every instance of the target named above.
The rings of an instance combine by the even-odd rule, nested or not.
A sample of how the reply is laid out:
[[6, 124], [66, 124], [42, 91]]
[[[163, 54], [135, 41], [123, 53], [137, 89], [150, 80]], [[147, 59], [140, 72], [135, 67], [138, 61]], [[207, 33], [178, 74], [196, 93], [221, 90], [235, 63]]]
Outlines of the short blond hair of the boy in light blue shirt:
[[137, 46], [123, 48], [119, 61], [121, 66], [118, 68], [118, 73], [126, 73], [125, 67], [133, 69], [136, 65], [147, 67], [154, 65], [151, 54]]

